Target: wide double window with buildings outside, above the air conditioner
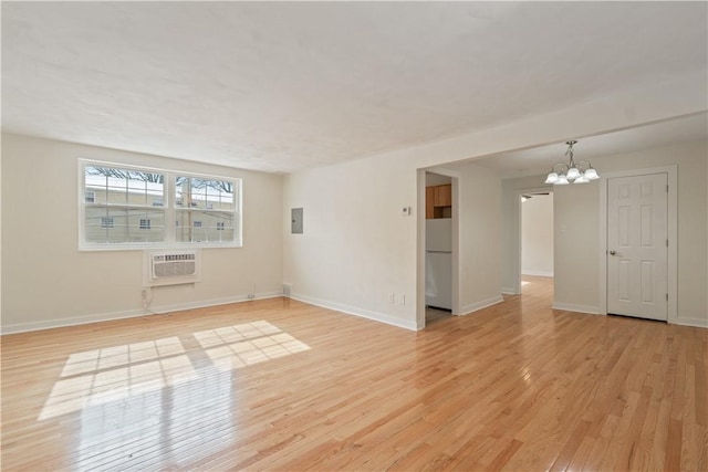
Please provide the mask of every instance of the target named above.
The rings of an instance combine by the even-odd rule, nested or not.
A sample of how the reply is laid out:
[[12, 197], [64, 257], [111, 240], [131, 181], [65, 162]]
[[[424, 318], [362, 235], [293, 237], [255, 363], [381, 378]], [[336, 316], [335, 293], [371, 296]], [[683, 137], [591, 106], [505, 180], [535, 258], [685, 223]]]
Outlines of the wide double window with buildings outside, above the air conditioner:
[[80, 249], [238, 247], [240, 179], [81, 161]]

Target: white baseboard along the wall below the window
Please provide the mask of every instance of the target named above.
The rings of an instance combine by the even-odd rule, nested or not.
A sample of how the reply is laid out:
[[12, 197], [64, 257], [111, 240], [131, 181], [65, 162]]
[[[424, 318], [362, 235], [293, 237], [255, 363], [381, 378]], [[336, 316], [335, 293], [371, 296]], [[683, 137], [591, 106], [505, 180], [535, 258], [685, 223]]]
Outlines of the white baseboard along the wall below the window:
[[18, 323], [14, 325], [2, 326], [0, 334], [25, 333], [39, 329], [51, 329], [63, 326], [85, 325], [88, 323], [108, 322], [112, 319], [134, 318], [137, 316], [150, 315], [152, 313], [171, 313], [181, 312], [184, 310], [204, 308], [207, 306], [226, 305], [229, 303], [249, 302], [251, 300], [264, 300], [283, 296], [281, 292], [267, 292], [257, 294], [254, 298], [248, 295], [227, 296], [222, 298], [200, 300], [187, 303], [174, 303], [169, 305], [150, 306], [150, 311], [144, 308], [125, 310], [121, 312], [98, 313], [85, 316], [72, 316], [69, 318], [49, 319], [42, 322]]

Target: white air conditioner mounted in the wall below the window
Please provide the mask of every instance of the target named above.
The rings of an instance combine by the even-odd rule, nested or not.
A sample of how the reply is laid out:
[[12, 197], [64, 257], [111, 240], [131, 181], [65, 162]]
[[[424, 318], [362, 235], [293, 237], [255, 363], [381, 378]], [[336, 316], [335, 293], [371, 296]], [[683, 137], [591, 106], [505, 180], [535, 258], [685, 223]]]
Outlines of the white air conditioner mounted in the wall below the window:
[[143, 286], [177, 285], [200, 281], [199, 250], [145, 251]]

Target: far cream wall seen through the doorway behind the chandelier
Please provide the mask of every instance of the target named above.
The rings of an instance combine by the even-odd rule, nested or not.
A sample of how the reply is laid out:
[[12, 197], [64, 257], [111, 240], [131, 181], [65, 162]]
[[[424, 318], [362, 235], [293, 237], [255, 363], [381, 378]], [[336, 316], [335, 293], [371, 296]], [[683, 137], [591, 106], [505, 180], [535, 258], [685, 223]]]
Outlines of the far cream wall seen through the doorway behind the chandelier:
[[553, 196], [521, 203], [521, 273], [553, 276]]

